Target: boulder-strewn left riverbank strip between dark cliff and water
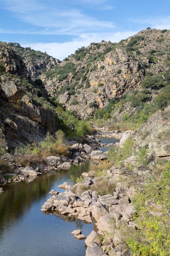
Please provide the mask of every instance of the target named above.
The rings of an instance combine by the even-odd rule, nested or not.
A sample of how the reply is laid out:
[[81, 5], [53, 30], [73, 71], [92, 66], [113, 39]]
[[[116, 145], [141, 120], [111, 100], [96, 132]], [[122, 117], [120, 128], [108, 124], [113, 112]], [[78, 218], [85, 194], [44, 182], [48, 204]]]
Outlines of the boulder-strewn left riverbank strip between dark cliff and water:
[[[114, 137], [119, 138], [122, 136], [122, 133], [113, 131]], [[105, 134], [106, 135], [106, 134]], [[86, 135], [83, 139], [79, 139], [79, 142], [75, 140], [67, 141], [69, 145], [69, 157], [66, 156], [47, 156], [43, 161], [37, 161], [32, 166], [23, 167], [22, 165], [17, 165], [15, 157], [10, 154], [5, 154], [1, 157], [1, 160], [6, 162], [10, 168], [13, 170], [13, 173], [5, 173], [0, 178], [0, 186], [3, 186], [11, 182], [21, 182], [26, 180], [32, 182], [42, 173], [46, 173], [52, 170], [57, 172], [61, 170], [67, 170], [71, 168], [71, 164], [78, 164], [79, 162], [84, 162], [88, 159], [99, 159], [103, 160], [106, 158], [106, 152], [102, 152], [101, 149], [106, 144], [101, 143], [96, 137], [100, 137], [102, 134], [96, 133], [95, 137], [93, 135]], [[83, 141], [86, 143], [83, 144]], [[117, 143], [116, 146], [119, 144]], [[113, 143], [108, 146], [113, 146]], [[31, 156], [29, 156], [31, 157]], [[4, 190], [0, 188], [0, 194]]]

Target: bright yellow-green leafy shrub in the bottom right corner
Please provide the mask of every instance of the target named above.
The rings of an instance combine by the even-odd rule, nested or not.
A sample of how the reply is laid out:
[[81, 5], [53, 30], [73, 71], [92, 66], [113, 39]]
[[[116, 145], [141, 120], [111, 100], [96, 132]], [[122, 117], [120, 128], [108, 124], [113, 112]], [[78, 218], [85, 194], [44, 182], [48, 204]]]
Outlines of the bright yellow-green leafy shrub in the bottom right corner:
[[126, 243], [132, 255], [168, 256], [170, 252], [170, 163], [159, 180], [149, 180], [133, 200], [137, 229], [131, 229]]

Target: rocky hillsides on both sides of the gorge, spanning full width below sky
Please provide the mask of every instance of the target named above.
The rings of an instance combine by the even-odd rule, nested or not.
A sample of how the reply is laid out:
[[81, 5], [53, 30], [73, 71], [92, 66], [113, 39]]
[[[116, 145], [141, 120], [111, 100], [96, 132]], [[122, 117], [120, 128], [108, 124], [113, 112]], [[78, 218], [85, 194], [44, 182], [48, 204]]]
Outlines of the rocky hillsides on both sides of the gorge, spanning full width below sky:
[[60, 126], [59, 106], [80, 119], [139, 127], [169, 104], [169, 39], [170, 31], [147, 28], [119, 43], [91, 43], [62, 62], [1, 42], [1, 137], [9, 148], [41, 141]]

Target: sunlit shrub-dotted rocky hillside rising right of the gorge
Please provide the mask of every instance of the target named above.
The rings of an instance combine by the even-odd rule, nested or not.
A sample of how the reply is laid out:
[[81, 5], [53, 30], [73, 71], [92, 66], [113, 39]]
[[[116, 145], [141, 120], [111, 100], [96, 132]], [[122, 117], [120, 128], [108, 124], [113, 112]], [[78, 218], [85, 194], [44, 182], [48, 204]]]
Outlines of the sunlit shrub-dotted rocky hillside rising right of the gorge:
[[[139, 94], [141, 82], [148, 75], [160, 74], [163, 78], [170, 64], [169, 39], [170, 31], [148, 28], [117, 44], [91, 43], [42, 74], [41, 79], [52, 97], [75, 115], [89, 119], [98, 108], [108, 112], [110, 101], [119, 101], [134, 90]], [[156, 97], [154, 91], [159, 91], [161, 86], [143, 88], [149, 92], [142, 93], [150, 95], [142, 99], [144, 103], [152, 102]], [[124, 105], [126, 112], [133, 110], [129, 104]]]

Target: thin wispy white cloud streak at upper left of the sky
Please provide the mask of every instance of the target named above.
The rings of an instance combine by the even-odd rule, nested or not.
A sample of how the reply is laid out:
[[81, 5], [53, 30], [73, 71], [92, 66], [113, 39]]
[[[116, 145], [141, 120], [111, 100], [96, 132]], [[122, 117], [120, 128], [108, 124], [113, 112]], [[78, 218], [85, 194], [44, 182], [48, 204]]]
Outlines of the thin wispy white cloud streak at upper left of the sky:
[[[85, 31], [102, 31], [103, 29], [108, 31], [115, 27], [113, 22], [91, 17], [79, 9], [73, 9], [73, 7], [66, 6], [65, 9], [62, 5], [60, 9], [57, 5], [50, 5], [51, 7], [49, 7], [48, 1], [46, 5], [41, 4], [39, 0], [30, 0], [29, 4], [22, 0], [0, 0], [0, 2], [3, 2], [4, 7], [12, 11], [15, 17], [22, 22], [44, 28], [39, 31], [41, 34], [44, 31], [44, 34], [77, 35]], [[106, 1], [96, 0], [95, 2]]]

